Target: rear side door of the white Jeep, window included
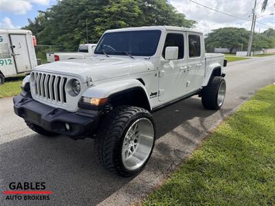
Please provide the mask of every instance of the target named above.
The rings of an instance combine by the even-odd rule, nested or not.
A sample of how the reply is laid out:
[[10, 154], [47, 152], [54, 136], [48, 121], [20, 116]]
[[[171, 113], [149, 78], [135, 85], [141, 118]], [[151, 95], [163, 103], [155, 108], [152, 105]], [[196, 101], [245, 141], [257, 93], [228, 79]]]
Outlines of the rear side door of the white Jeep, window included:
[[205, 74], [204, 43], [202, 34], [187, 32], [188, 38], [188, 75], [186, 91], [192, 93], [201, 88]]

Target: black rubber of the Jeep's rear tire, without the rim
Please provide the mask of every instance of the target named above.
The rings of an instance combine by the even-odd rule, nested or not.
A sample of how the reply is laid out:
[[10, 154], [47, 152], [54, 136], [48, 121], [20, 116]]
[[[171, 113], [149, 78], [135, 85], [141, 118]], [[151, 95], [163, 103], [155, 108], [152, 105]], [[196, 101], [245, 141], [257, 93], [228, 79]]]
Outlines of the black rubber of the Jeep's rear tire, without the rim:
[[221, 108], [223, 102], [221, 104], [218, 103], [218, 93], [221, 84], [226, 83], [223, 77], [221, 76], [212, 76], [208, 82], [207, 87], [204, 87], [201, 91], [201, 103], [206, 109], [217, 110]]

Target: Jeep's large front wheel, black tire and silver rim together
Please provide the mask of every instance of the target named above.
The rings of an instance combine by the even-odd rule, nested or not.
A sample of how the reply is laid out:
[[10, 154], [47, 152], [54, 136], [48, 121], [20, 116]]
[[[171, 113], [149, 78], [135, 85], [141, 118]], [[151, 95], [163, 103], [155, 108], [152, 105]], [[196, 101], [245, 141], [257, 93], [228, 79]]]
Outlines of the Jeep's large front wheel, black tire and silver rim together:
[[155, 121], [144, 108], [118, 106], [101, 121], [95, 139], [100, 163], [121, 176], [141, 172], [155, 145]]

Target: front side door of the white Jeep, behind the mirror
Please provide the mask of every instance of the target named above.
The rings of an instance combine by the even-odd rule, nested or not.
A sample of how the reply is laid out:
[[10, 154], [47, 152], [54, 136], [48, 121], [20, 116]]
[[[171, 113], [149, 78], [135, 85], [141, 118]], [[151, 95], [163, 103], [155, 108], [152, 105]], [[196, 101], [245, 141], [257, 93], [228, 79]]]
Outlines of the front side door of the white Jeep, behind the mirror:
[[[162, 60], [159, 66], [159, 101], [164, 102], [181, 97], [186, 93], [187, 58], [185, 32], [173, 32], [166, 34], [166, 40], [162, 52]], [[166, 47], [179, 47], [177, 60], [167, 61], [165, 57]]]

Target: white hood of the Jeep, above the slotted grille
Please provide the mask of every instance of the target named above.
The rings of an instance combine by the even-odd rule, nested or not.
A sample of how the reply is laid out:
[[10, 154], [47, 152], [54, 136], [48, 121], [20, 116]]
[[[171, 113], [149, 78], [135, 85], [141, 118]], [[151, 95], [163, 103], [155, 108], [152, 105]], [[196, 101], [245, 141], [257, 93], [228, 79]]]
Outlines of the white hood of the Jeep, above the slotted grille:
[[107, 78], [128, 76], [132, 73], [147, 71], [146, 65], [148, 65], [148, 61], [141, 59], [95, 57], [61, 60], [39, 65], [35, 67], [34, 70], [78, 76], [82, 78], [83, 81], [89, 76], [95, 82]]

